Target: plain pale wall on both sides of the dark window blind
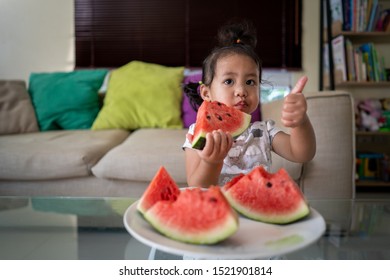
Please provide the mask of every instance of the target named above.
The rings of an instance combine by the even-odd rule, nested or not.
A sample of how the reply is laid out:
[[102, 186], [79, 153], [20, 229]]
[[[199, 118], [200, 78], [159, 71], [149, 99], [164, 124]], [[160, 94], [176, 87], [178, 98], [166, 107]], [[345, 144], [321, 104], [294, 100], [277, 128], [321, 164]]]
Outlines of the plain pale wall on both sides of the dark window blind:
[[[0, 0], [0, 79], [74, 67], [73, 0]], [[303, 0], [305, 91], [318, 89], [319, 0]]]

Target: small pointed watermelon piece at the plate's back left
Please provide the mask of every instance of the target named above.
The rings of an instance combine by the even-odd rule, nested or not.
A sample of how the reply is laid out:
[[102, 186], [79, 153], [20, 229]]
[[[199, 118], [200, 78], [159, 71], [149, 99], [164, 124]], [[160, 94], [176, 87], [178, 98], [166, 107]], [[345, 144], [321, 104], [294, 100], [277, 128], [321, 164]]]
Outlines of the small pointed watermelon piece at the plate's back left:
[[140, 198], [137, 209], [145, 214], [156, 202], [160, 200], [175, 201], [179, 194], [179, 187], [167, 170], [161, 166]]

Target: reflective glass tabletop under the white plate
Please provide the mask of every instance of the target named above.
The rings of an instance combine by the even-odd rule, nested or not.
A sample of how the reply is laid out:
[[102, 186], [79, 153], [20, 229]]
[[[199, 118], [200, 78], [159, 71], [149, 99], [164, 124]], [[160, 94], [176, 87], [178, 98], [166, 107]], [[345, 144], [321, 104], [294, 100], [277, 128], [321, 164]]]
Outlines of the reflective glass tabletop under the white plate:
[[[0, 259], [183, 259], [125, 229], [130, 198], [0, 197]], [[282, 259], [390, 259], [390, 200], [310, 200], [326, 221], [315, 243]], [[152, 256], [151, 256], [152, 255]]]

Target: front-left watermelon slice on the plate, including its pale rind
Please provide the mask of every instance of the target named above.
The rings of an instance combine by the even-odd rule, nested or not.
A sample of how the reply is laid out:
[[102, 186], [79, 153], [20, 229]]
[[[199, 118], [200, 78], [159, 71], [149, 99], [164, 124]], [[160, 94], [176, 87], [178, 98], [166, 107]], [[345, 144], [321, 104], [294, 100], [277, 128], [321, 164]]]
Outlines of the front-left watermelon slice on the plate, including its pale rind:
[[214, 244], [238, 229], [237, 213], [216, 186], [185, 189], [175, 201], [157, 202], [144, 217], [167, 237], [193, 244]]

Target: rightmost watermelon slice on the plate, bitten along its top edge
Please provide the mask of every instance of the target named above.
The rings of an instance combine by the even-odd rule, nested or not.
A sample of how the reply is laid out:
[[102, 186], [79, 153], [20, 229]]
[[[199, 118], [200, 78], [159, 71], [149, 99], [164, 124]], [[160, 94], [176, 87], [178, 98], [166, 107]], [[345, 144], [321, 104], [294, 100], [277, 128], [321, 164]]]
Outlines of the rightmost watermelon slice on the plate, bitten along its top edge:
[[287, 224], [309, 214], [304, 195], [283, 168], [272, 174], [259, 166], [238, 176], [222, 191], [242, 215], [266, 223]]

